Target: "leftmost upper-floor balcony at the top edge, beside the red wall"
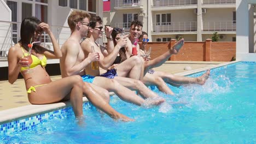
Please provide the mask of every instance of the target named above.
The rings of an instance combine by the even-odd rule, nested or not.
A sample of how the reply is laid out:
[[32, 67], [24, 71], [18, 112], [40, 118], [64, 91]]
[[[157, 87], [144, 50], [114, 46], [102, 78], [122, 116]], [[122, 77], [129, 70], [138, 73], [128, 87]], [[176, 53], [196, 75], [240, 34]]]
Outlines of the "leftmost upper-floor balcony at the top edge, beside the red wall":
[[114, 9], [142, 9], [138, 0], [115, 0]]

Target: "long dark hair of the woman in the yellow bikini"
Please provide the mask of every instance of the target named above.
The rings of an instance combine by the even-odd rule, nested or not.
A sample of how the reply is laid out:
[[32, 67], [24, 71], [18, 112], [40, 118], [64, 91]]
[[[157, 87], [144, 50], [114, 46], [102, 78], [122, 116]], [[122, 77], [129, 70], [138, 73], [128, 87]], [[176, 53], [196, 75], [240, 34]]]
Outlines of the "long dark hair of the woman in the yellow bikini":
[[[41, 23], [41, 21], [38, 20], [36, 17], [28, 17], [21, 22], [21, 28], [20, 28], [21, 39], [19, 40], [19, 43], [27, 51], [29, 50], [28, 44], [30, 44], [31, 38], [33, 39], [34, 31], [36, 31], [36, 29], [38, 28], [39, 23]], [[35, 52], [39, 52], [40, 46], [33, 45], [33, 49]]]

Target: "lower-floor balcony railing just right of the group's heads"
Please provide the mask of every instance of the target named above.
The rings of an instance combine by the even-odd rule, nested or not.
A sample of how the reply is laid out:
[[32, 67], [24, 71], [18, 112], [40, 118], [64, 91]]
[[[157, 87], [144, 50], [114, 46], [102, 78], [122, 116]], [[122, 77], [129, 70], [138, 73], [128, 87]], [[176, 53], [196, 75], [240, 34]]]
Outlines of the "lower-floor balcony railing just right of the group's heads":
[[194, 32], [196, 27], [196, 21], [156, 22], [153, 23], [153, 32]]

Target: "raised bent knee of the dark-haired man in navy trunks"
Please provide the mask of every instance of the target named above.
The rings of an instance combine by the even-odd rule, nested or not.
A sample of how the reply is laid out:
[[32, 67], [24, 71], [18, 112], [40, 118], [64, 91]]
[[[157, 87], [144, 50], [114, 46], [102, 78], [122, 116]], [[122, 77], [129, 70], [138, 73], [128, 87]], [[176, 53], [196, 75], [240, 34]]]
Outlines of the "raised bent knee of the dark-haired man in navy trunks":
[[116, 67], [117, 74], [118, 76], [139, 80], [141, 79], [141, 73], [143, 72], [141, 65], [141, 58], [137, 56], [130, 57]]

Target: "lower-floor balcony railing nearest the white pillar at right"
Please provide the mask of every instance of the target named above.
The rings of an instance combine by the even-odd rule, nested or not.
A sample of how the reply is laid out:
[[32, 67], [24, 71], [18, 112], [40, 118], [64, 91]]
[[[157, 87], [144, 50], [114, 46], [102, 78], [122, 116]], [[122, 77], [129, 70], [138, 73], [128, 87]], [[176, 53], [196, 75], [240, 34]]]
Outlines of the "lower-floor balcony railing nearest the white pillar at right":
[[236, 21], [204, 21], [203, 31], [236, 31]]

